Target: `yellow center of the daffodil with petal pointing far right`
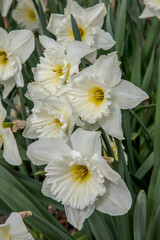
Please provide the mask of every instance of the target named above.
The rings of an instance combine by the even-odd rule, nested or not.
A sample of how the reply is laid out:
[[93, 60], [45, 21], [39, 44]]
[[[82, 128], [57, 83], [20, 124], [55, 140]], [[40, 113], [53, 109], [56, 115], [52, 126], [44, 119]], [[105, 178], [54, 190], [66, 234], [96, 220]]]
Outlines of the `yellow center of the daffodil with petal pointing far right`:
[[100, 87], [94, 87], [89, 90], [89, 101], [99, 106], [104, 102], [104, 90]]

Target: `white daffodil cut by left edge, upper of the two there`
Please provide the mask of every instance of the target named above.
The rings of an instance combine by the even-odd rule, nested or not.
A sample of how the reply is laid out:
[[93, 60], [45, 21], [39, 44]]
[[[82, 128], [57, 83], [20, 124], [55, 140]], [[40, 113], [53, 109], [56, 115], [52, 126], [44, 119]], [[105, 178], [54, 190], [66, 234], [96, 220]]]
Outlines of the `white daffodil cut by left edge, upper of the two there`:
[[22, 63], [34, 50], [34, 35], [29, 30], [7, 33], [0, 28], [0, 84], [4, 85], [3, 97], [7, 97], [15, 84], [23, 87]]

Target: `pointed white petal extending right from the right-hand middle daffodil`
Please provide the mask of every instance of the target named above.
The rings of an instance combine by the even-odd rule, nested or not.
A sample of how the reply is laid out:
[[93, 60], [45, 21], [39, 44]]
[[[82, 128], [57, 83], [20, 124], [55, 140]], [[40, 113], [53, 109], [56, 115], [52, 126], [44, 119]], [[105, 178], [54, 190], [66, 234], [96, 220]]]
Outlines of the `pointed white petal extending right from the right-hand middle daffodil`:
[[134, 108], [140, 102], [149, 98], [147, 93], [136, 87], [133, 83], [125, 80], [121, 80], [112, 91], [112, 100], [116, 102], [121, 109]]

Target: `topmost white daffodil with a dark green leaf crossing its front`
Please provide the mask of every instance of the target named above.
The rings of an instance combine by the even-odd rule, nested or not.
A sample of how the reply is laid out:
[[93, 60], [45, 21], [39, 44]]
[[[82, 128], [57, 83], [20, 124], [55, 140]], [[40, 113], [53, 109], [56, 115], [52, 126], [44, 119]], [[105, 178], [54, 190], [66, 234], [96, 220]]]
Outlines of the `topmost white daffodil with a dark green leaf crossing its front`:
[[71, 14], [74, 16], [81, 39], [90, 47], [108, 50], [115, 44], [111, 35], [102, 30], [104, 17], [107, 10], [104, 3], [96, 4], [90, 8], [82, 8], [76, 1], [67, 1], [63, 14], [51, 14], [48, 31], [57, 37], [57, 41], [65, 47], [74, 41], [74, 34], [71, 26]]

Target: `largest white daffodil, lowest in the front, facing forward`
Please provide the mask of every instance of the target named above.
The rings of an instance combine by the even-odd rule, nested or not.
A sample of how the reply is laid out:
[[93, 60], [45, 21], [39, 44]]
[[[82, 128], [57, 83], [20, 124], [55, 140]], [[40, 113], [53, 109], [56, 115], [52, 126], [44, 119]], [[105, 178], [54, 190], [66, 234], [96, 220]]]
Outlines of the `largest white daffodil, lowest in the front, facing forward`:
[[47, 164], [43, 194], [62, 202], [68, 221], [78, 229], [94, 209], [125, 214], [131, 207], [131, 195], [120, 175], [101, 157], [100, 133], [78, 129], [70, 144], [52, 138], [28, 147], [33, 164]]

